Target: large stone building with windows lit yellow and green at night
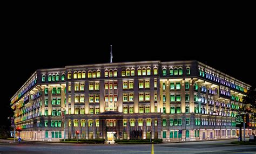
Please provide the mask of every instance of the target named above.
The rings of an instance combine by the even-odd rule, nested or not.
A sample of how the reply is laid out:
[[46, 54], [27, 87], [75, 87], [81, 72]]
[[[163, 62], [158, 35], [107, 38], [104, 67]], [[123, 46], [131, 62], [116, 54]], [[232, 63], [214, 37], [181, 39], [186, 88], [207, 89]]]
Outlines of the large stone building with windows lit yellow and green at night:
[[198, 61], [66, 66], [38, 69], [11, 108], [23, 139], [200, 141], [238, 136], [234, 110], [250, 87]]

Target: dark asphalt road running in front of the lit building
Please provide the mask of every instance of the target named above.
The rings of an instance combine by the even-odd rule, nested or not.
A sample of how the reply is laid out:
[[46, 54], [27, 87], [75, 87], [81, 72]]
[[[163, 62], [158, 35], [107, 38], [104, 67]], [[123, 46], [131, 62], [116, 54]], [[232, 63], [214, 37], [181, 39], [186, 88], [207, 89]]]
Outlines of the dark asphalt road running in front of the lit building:
[[[154, 144], [154, 153], [256, 153], [254, 145], [230, 144], [237, 139], [221, 141], [161, 143]], [[117, 144], [64, 144], [0, 140], [0, 154], [3, 153], [151, 153], [151, 144], [117, 145]]]

